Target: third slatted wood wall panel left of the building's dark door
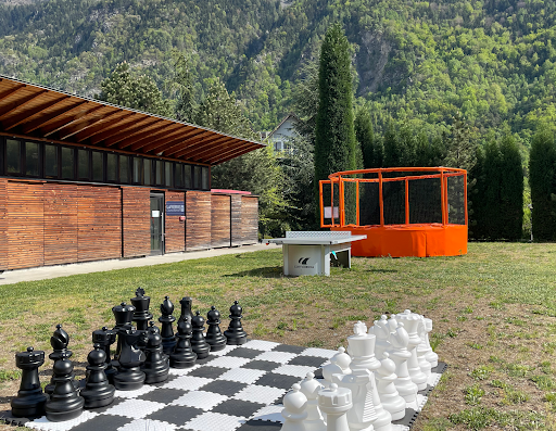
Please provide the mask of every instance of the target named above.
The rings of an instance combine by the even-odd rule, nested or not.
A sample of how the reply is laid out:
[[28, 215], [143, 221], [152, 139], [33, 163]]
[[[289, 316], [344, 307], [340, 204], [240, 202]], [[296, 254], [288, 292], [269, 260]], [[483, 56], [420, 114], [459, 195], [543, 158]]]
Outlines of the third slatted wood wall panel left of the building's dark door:
[[77, 262], [77, 186], [47, 182], [45, 199], [45, 265]]

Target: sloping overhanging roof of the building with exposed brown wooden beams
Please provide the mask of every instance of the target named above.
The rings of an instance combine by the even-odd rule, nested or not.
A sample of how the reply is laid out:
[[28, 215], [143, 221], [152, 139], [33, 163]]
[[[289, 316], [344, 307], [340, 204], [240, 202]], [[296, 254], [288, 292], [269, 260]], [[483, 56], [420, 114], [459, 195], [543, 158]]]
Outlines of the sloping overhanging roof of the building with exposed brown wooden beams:
[[0, 135], [217, 165], [265, 147], [0, 75]]

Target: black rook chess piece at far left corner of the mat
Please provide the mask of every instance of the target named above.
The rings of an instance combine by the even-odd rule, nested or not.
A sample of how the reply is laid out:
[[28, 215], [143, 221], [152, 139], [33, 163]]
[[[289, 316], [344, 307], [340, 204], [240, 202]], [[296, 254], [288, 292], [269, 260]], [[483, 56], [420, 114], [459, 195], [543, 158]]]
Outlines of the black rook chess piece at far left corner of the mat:
[[45, 364], [45, 352], [33, 351], [15, 354], [15, 365], [22, 369], [22, 382], [17, 396], [12, 400], [12, 415], [17, 418], [40, 418], [45, 415], [48, 396], [42, 393], [39, 381], [39, 367]]

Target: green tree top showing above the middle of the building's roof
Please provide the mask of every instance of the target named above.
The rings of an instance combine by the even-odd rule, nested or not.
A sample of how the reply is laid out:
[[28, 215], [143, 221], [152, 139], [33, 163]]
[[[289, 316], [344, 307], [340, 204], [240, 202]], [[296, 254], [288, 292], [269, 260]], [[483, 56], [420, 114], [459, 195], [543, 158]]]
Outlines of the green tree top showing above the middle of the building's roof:
[[155, 115], [170, 115], [169, 102], [163, 98], [156, 84], [147, 75], [132, 75], [125, 62], [102, 81], [101, 88], [97, 98], [104, 102]]

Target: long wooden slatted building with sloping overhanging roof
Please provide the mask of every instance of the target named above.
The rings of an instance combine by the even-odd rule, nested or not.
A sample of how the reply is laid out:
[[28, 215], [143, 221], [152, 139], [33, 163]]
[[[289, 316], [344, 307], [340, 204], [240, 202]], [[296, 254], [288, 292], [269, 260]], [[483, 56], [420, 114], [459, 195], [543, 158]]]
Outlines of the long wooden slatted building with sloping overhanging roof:
[[255, 243], [211, 166], [261, 147], [0, 75], [0, 270]]

